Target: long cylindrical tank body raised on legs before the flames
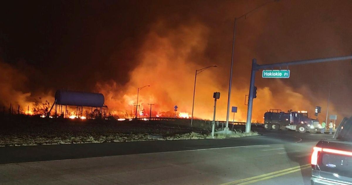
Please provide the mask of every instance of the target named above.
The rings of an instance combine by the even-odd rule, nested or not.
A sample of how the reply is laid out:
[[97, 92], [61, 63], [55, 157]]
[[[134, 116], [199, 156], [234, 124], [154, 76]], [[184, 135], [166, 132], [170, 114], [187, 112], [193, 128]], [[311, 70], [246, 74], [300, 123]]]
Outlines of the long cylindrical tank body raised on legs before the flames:
[[103, 107], [104, 105], [104, 95], [101, 93], [57, 90], [55, 93], [55, 100], [58, 105], [83, 107]]

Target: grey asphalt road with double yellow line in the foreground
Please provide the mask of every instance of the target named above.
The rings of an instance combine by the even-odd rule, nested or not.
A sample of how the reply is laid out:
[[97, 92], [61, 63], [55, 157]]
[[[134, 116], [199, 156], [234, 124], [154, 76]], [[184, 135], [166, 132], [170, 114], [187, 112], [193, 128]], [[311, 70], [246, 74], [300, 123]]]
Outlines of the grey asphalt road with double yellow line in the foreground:
[[223, 140], [0, 147], [0, 184], [309, 184], [311, 150], [331, 135], [256, 129], [261, 136]]

